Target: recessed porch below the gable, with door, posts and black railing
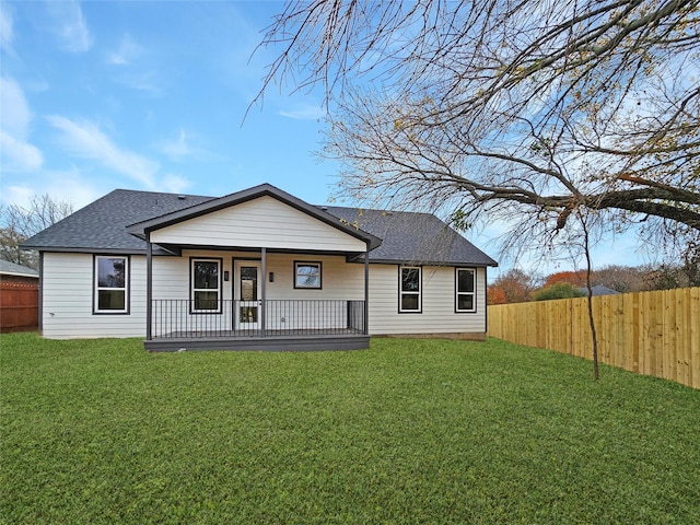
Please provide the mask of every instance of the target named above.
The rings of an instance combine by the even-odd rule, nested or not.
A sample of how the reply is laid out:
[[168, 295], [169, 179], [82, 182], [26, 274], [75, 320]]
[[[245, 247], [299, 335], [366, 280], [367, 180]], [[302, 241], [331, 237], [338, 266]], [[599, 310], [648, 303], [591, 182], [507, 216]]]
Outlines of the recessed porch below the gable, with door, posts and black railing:
[[[369, 348], [369, 266], [366, 257], [357, 261], [363, 255], [207, 246], [182, 248], [178, 257], [154, 257], [149, 247], [144, 347], [151, 351]], [[160, 284], [167, 280], [165, 275], [177, 283]]]

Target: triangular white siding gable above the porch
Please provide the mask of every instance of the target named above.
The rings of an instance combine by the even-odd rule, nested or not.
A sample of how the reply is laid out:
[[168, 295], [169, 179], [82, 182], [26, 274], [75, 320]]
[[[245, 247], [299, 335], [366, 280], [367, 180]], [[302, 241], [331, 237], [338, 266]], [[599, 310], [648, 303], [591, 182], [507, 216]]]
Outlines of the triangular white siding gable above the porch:
[[264, 196], [151, 233], [153, 243], [364, 252], [364, 242]]

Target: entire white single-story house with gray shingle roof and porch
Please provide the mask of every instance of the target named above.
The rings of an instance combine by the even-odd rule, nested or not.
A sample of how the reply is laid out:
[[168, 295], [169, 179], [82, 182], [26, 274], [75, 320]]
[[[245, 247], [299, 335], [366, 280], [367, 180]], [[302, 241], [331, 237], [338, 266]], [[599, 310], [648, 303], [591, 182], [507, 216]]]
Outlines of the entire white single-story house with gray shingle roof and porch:
[[483, 339], [487, 268], [427, 213], [311, 206], [273, 186], [221, 198], [115, 190], [27, 240], [48, 338], [151, 350], [366, 348]]

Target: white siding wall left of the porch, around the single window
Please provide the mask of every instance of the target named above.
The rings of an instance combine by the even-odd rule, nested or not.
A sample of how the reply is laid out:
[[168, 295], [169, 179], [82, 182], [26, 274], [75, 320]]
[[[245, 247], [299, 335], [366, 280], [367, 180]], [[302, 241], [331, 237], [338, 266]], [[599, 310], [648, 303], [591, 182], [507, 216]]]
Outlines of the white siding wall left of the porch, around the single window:
[[43, 335], [49, 339], [144, 337], [145, 258], [130, 258], [129, 314], [93, 314], [93, 256], [44, 254]]

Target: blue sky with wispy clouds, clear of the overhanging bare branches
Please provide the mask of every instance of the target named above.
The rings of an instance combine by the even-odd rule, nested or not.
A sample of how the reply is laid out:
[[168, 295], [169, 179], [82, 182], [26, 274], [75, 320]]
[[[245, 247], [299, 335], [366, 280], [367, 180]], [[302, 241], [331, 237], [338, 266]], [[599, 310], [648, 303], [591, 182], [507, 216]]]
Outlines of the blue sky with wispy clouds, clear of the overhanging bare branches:
[[[328, 202], [338, 166], [313, 154], [320, 90], [271, 89], [244, 121], [276, 57], [253, 51], [282, 8], [0, 1], [0, 201], [49, 194], [78, 209], [115, 188], [223, 196], [270, 183]], [[498, 258], [493, 228], [470, 240]], [[638, 264], [635, 243], [606, 243], [595, 261]]]

